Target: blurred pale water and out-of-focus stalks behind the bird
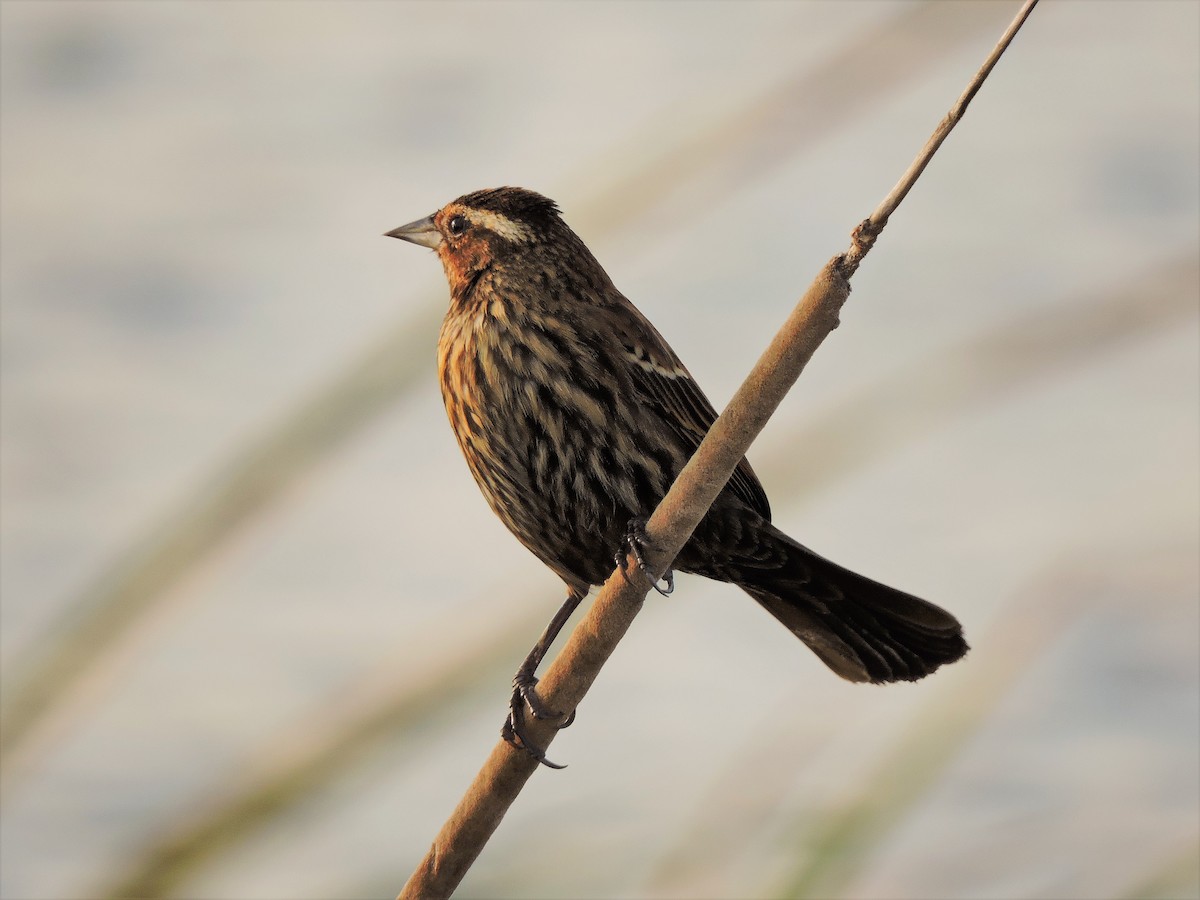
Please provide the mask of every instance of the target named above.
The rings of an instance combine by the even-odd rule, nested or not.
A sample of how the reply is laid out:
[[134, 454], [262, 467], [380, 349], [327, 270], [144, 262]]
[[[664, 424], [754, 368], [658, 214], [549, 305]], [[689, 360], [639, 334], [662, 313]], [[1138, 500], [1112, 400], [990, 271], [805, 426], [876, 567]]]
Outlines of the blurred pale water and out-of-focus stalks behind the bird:
[[[0, 894], [394, 895], [563, 590], [382, 233], [553, 197], [720, 407], [1016, 8], [5, 0]], [[967, 659], [684, 577], [463, 896], [1198, 896], [1198, 47], [1040, 6], [751, 454]]]

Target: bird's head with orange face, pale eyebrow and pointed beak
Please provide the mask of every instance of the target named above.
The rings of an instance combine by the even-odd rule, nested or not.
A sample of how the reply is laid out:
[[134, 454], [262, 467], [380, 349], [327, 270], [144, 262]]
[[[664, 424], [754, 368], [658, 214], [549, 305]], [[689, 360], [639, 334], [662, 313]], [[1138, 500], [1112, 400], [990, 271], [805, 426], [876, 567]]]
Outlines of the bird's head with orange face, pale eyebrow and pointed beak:
[[553, 200], [522, 187], [493, 187], [464, 194], [432, 216], [386, 233], [436, 251], [451, 294], [482, 272], [574, 234]]

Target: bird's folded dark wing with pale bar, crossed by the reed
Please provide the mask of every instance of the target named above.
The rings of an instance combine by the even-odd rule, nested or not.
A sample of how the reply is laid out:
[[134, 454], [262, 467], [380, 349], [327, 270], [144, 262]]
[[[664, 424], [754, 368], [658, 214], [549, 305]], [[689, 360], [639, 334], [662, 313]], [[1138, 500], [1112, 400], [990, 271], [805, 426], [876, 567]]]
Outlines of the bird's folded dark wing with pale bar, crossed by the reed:
[[[694, 454], [716, 421], [716, 410], [691, 373], [649, 319], [628, 300], [614, 317], [613, 336], [622, 342], [634, 385], [659, 419], [674, 430]], [[750, 509], [770, 521], [770, 504], [745, 457], [730, 478], [728, 487]]]

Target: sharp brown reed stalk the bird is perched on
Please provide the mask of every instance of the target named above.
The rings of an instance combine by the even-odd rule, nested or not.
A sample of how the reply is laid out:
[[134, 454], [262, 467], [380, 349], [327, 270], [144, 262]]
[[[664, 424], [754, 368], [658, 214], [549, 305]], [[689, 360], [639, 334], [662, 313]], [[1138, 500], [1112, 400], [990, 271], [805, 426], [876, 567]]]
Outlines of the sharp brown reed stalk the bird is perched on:
[[[905, 178], [871, 218], [856, 229], [852, 248], [830, 259], [809, 286], [784, 328], [775, 335], [650, 516], [646, 532], [655, 551], [649, 554], [648, 562], [655, 570], [662, 571], [665, 564], [679, 553], [805, 364], [838, 326], [839, 311], [850, 295], [850, 277], [870, 252], [888, 216], [904, 199], [946, 134], [962, 118], [971, 97], [979, 90], [979, 85], [1036, 5], [1037, 0], [1025, 4]], [[650, 581], [632, 556], [628, 564], [630, 577], [625, 577], [619, 570], [608, 577], [562, 653], [546, 670], [539, 684], [539, 694], [550, 708], [578, 707], [600, 668], [642, 608]], [[529, 718], [527, 731], [530, 740], [545, 748], [554, 738], [556, 725]], [[536, 768], [538, 762], [528, 754], [503, 740], [497, 743], [458, 806], [434, 838], [425, 859], [404, 884], [398, 900], [450, 896]]]

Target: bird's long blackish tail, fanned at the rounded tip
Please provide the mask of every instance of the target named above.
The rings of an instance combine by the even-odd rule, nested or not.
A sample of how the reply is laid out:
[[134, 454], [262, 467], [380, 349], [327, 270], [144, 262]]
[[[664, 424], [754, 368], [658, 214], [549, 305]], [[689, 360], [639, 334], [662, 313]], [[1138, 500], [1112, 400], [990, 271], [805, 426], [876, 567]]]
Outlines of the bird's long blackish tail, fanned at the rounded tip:
[[962, 626], [946, 610], [842, 569], [768, 528], [784, 546], [773, 547], [766, 566], [739, 560], [737, 583], [842, 678], [916, 682], [967, 652]]

